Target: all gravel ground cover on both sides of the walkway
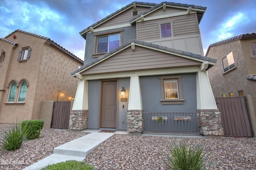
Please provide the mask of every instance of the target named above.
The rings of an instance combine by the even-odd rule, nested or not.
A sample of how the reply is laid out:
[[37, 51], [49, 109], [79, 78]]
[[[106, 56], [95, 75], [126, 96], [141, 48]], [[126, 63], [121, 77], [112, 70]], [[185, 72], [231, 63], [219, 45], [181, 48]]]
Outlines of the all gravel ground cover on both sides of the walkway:
[[[15, 151], [0, 149], [0, 169], [20, 170], [53, 153], [59, 145], [82, 137], [86, 133], [70, 130], [43, 129], [40, 137], [26, 141]], [[84, 160], [98, 170], [157, 170], [168, 169], [168, 143], [180, 138], [113, 135], [94, 149]], [[186, 145], [202, 144], [209, 154], [210, 170], [256, 170], [256, 138], [184, 138]], [[17, 160], [20, 162], [17, 162]], [[10, 164], [3, 164], [4, 161]], [[22, 163], [23, 162], [23, 163]]]

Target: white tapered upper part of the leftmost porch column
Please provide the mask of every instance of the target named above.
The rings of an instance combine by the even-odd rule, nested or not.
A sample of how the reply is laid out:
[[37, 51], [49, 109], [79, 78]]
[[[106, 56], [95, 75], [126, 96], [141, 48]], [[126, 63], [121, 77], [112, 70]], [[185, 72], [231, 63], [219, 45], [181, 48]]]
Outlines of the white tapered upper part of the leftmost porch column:
[[88, 81], [80, 80], [72, 110], [88, 110]]

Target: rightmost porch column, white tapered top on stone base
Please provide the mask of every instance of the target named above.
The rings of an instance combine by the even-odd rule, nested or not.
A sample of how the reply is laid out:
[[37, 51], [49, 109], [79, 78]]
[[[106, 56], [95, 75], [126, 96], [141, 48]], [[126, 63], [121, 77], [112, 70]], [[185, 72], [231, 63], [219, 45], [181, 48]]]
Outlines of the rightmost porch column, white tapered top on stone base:
[[197, 120], [203, 135], [224, 135], [221, 116], [206, 71], [196, 73]]

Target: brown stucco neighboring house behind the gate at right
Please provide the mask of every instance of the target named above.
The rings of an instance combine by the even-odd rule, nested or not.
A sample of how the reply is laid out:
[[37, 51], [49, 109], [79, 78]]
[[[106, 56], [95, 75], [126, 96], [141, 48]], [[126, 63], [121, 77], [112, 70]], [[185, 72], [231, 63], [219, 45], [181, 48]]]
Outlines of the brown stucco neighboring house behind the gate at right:
[[251, 95], [256, 110], [256, 33], [209, 45], [206, 56], [217, 59], [208, 70], [215, 97]]

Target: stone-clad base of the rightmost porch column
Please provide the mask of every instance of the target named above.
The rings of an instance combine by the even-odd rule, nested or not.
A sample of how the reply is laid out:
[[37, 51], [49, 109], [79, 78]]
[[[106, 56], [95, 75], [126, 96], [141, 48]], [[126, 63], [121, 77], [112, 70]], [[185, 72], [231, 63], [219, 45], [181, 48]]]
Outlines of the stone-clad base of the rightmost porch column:
[[198, 127], [203, 135], [224, 135], [219, 109], [198, 109]]

